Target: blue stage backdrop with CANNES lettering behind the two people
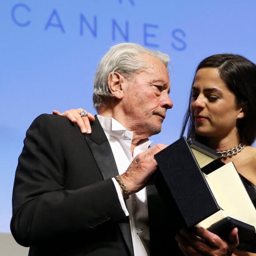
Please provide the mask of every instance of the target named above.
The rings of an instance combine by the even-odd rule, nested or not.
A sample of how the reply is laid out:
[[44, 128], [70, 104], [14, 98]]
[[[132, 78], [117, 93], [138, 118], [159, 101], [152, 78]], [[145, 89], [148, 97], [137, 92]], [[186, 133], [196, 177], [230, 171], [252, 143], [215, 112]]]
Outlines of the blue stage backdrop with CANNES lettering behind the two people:
[[179, 137], [203, 58], [237, 53], [256, 62], [255, 10], [254, 0], [1, 0], [0, 232], [10, 233], [12, 185], [26, 129], [53, 109], [96, 113], [94, 72], [110, 46], [136, 42], [169, 54], [174, 105], [161, 134], [151, 139], [170, 144]]

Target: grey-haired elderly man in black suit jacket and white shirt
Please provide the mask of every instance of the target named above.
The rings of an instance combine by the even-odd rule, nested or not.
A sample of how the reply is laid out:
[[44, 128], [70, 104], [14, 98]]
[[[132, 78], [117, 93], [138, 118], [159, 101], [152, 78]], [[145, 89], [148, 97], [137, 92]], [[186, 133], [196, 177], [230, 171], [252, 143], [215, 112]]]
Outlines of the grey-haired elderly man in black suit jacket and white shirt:
[[164, 53], [115, 45], [95, 75], [91, 134], [56, 115], [31, 124], [11, 219], [13, 236], [30, 246], [30, 256], [182, 255], [150, 183], [154, 154], [166, 145], [149, 148], [148, 137], [161, 131], [173, 106], [168, 64]]

